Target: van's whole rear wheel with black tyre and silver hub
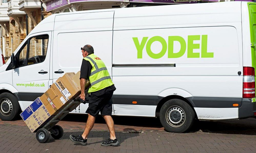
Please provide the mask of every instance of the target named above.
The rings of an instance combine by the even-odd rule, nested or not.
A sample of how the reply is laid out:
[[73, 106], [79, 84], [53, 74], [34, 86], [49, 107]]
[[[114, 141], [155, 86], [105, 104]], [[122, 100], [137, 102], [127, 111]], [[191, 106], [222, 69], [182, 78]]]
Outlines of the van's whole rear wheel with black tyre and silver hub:
[[194, 118], [193, 109], [180, 99], [167, 101], [160, 110], [160, 122], [168, 132], [185, 132], [193, 125]]

